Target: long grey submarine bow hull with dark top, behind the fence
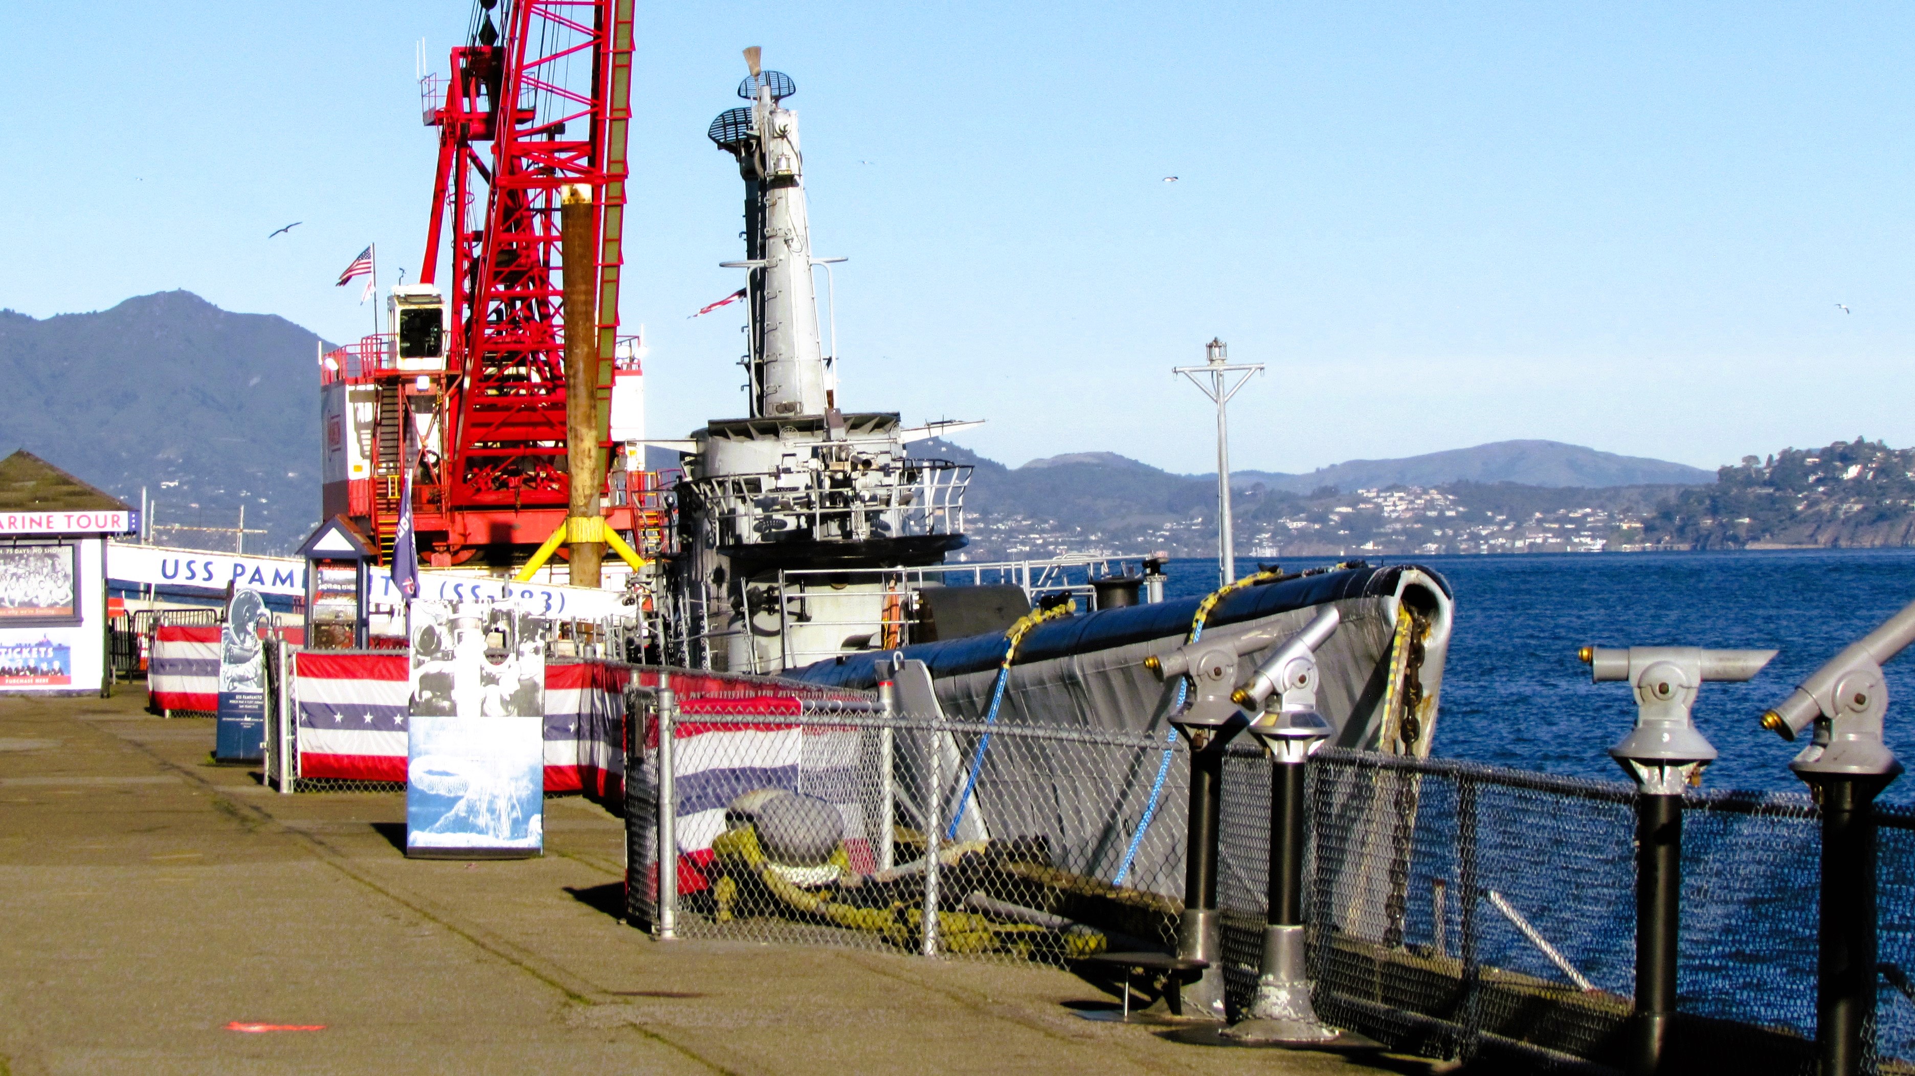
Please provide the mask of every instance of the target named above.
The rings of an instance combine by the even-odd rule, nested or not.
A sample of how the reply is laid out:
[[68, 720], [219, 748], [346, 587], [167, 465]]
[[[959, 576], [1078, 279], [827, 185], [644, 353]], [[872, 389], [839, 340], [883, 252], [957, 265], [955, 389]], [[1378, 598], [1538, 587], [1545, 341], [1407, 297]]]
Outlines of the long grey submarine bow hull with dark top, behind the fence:
[[[1339, 747], [1396, 749], [1379, 745], [1379, 731], [1396, 632], [1396, 594], [1406, 582], [1432, 584], [1440, 590], [1438, 616], [1425, 645], [1421, 670], [1425, 731], [1413, 749], [1415, 754], [1427, 754], [1434, 735], [1436, 695], [1450, 634], [1450, 586], [1434, 571], [1411, 565], [1365, 567], [1249, 588], [1220, 603], [1206, 630], [1273, 620], [1283, 628], [1281, 641], [1310, 622], [1319, 605], [1335, 603], [1342, 624], [1318, 649], [1318, 710], [1339, 729], [1333, 741]], [[996, 724], [1147, 733], [1164, 743], [1178, 682], [1176, 678], [1159, 682], [1143, 666], [1143, 659], [1180, 645], [1197, 605], [1199, 599], [1191, 597], [1070, 616], [1036, 628], [1019, 647]], [[1239, 678], [1247, 678], [1273, 647], [1275, 643], [1245, 655]], [[929, 666], [940, 716], [979, 722], [990, 708], [1003, 649], [1003, 636], [994, 634], [904, 647], [902, 653], [906, 661], [917, 659]], [[860, 653], [810, 664], [787, 676], [814, 684], [871, 687], [879, 657], [885, 655]], [[959, 758], [963, 766], [969, 764], [977, 735], [942, 733], [938, 739], [946, 741], [940, 745], [942, 783], [952, 787], [954, 764]], [[904, 770], [915, 770], [927, 751], [931, 741], [923, 733], [900, 735], [898, 754]], [[1109, 881], [1151, 798], [1159, 760], [1160, 754], [1155, 751], [1095, 751], [1038, 739], [1019, 739], [1013, 745], [1011, 737], [1000, 737], [982, 758], [975, 791], [977, 814], [992, 837], [1048, 835], [1053, 854], [1061, 860], [1057, 865]], [[1187, 775], [1189, 752], [1180, 745], [1160, 793], [1160, 812], [1162, 804], [1176, 804], [1172, 814], [1182, 818]], [[900, 785], [921, 793], [921, 779], [913, 773]], [[915, 804], [906, 806], [915, 814]], [[946, 825], [956, 806], [956, 802], [944, 806]], [[1264, 818], [1268, 819], [1268, 814]], [[969, 833], [969, 825], [965, 829], [967, 833], [959, 833], [961, 839], [975, 835]], [[1226, 854], [1224, 869], [1235, 869], [1228, 860]], [[1138, 850], [1130, 885], [1182, 896], [1182, 823], [1153, 823]], [[1262, 863], [1254, 863], [1254, 873], [1262, 873]]]

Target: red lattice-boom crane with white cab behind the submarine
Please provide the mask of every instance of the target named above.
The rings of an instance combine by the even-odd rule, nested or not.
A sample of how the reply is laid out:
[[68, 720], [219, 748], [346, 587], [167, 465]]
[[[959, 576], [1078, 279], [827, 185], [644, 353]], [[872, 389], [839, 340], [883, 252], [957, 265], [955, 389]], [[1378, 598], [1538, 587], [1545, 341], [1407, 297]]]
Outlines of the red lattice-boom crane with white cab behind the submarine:
[[[408, 458], [421, 561], [523, 561], [561, 525], [573, 272], [596, 278], [599, 442], [611, 446], [630, 77], [632, 0], [479, 0], [450, 75], [421, 80], [439, 168], [419, 283], [393, 289], [393, 335], [322, 362], [322, 379], [345, 383], [337, 408], [327, 402], [326, 511], [362, 519], [383, 553]], [[596, 264], [561, 264], [567, 188], [590, 195]], [[442, 345], [421, 335], [437, 325]], [[364, 467], [347, 458], [354, 446]], [[607, 523], [643, 528], [634, 509], [613, 504]]]

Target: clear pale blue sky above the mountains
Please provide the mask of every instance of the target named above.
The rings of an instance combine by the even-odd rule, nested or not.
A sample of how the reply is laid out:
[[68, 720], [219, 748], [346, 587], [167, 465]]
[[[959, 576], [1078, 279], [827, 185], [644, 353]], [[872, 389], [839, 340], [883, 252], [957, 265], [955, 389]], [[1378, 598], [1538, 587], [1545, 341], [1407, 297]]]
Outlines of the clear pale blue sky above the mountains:
[[[417, 272], [414, 42], [444, 71], [469, 4], [8, 8], [0, 306], [184, 287], [345, 339], [360, 247]], [[760, 44], [816, 249], [850, 257], [841, 402], [990, 419], [959, 440], [1007, 463], [1208, 469], [1168, 368], [1212, 335], [1270, 366], [1237, 467], [1915, 442], [1915, 8], [645, 8], [622, 312], [655, 437], [743, 408], [737, 318], [686, 314], [737, 287], [705, 126]]]

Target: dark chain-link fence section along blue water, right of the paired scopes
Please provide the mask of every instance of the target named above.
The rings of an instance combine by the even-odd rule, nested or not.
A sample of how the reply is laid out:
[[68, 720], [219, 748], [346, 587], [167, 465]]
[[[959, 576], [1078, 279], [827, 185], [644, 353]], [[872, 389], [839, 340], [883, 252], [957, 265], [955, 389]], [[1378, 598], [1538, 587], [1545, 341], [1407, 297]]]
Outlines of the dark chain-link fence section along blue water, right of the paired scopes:
[[[1268, 789], [1268, 764], [1239, 756], [1226, 789], [1254, 796], [1258, 772]], [[1319, 752], [1310, 772], [1310, 963], [1327, 1020], [1431, 1055], [1620, 1059], [1635, 990], [1633, 785], [1348, 751]], [[1902, 971], [1915, 961], [1915, 812], [1877, 818], [1871, 1066], [1915, 1072]], [[1683, 798], [1672, 1065], [1814, 1072], [1819, 852], [1806, 795]], [[1250, 877], [1226, 904], [1250, 904], [1260, 923], [1264, 856], [1235, 862]], [[1231, 953], [1226, 930], [1239, 990], [1250, 944]]]

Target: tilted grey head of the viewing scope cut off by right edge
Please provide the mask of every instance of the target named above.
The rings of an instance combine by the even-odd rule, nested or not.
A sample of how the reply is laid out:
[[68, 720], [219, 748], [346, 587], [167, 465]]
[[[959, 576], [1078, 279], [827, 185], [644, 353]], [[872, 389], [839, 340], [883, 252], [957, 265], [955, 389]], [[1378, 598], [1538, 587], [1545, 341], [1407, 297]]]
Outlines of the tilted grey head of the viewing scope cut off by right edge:
[[1808, 726], [1815, 735], [1789, 764], [1800, 775], [1810, 773], [1879, 773], [1902, 772], [1896, 754], [1882, 743], [1882, 720], [1888, 716], [1888, 682], [1882, 662], [1915, 641], [1915, 603], [1856, 639], [1804, 680], [1779, 706], [1762, 714], [1762, 728], [1794, 739]]

